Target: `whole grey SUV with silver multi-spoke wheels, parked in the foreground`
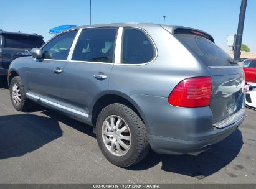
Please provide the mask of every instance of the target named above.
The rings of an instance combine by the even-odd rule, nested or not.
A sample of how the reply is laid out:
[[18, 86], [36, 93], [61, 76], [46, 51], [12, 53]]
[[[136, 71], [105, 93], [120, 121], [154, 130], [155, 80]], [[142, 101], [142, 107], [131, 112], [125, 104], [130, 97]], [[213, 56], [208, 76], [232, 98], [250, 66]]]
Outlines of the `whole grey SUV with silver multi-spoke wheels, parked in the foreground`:
[[201, 30], [87, 25], [31, 53], [9, 68], [14, 108], [32, 101], [92, 125], [102, 153], [120, 167], [150, 147], [198, 155], [245, 118], [244, 70]]

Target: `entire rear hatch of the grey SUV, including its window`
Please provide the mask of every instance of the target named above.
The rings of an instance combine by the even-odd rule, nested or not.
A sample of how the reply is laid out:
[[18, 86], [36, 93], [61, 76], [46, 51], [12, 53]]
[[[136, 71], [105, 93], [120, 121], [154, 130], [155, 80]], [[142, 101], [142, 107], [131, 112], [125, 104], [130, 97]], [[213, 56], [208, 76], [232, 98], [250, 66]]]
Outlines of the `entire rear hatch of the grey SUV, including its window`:
[[181, 29], [174, 36], [207, 67], [213, 88], [210, 109], [213, 121], [219, 122], [237, 113], [244, 104], [244, 70], [214, 44], [209, 34]]

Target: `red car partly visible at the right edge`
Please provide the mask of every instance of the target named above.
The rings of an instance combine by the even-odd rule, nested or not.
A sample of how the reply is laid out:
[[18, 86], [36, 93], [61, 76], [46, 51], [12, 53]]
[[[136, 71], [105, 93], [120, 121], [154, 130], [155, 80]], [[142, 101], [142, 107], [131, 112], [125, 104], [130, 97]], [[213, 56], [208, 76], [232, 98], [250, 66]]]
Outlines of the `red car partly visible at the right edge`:
[[256, 58], [244, 61], [245, 83], [256, 83]]

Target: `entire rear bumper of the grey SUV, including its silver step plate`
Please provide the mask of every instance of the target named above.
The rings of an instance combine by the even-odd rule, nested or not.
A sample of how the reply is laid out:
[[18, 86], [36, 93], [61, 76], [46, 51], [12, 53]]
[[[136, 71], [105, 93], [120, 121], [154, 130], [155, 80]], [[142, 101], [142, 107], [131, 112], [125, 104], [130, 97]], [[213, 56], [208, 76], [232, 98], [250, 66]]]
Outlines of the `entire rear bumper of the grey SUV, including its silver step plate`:
[[141, 108], [151, 148], [159, 154], [197, 155], [232, 134], [245, 118], [245, 110], [240, 109], [237, 114], [213, 123], [209, 106], [181, 108], [158, 96], [136, 94], [131, 98]]

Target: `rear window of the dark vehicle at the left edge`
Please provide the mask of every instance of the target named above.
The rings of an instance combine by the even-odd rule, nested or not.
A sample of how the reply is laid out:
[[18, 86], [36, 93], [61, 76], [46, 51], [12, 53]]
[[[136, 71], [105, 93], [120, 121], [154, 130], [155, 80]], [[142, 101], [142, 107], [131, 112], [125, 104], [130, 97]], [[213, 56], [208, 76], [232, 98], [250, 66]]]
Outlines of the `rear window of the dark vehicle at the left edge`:
[[4, 35], [5, 47], [10, 48], [36, 48], [44, 44], [41, 37], [28, 35]]

